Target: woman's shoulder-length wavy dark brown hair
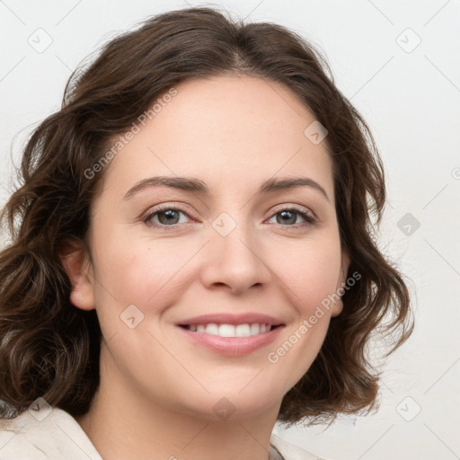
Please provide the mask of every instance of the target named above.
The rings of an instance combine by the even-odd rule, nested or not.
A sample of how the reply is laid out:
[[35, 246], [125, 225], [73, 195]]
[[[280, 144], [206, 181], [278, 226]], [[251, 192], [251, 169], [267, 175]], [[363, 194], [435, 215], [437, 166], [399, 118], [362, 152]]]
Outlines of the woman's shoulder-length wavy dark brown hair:
[[332, 422], [341, 412], [376, 409], [379, 372], [369, 341], [385, 332], [387, 356], [413, 320], [403, 275], [376, 244], [385, 176], [371, 132], [308, 40], [277, 24], [193, 7], [153, 16], [105, 44], [70, 76], [61, 109], [24, 148], [20, 183], [0, 216], [11, 239], [0, 252], [0, 417], [18, 415], [39, 396], [73, 416], [89, 410], [102, 333], [95, 310], [71, 304], [59, 257], [82, 243], [91, 256], [89, 208], [107, 168], [91, 179], [87, 172], [158, 95], [216, 75], [284, 84], [328, 130], [341, 245], [349, 274], [361, 275], [342, 296], [314, 363], [284, 396], [279, 421]]

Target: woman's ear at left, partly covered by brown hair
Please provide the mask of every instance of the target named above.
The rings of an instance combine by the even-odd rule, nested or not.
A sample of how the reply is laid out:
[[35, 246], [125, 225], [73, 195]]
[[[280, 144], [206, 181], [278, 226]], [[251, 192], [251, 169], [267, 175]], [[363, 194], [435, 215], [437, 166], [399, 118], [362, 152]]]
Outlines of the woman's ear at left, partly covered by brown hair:
[[93, 266], [87, 250], [83, 244], [70, 243], [65, 250], [59, 252], [59, 258], [72, 283], [70, 301], [82, 310], [93, 310]]

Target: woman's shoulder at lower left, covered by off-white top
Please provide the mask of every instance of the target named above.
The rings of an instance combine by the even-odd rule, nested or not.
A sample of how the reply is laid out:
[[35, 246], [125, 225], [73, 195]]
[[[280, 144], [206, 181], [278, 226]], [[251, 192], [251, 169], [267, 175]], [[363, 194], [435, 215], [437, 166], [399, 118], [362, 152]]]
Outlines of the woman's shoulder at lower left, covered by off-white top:
[[[48, 406], [48, 407], [47, 407]], [[13, 419], [0, 419], [2, 460], [102, 460], [77, 421], [48, 404], [23, 411]]]

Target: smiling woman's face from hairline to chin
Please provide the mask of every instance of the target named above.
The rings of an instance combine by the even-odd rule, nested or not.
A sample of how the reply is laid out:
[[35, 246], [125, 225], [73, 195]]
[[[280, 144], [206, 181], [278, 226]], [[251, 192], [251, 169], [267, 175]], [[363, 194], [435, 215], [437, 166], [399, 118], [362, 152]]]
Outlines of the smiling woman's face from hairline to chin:
[[92, 294], [72, 300], [96, 308], [111, 385], [234, 420], [281, 403], [341, 312], [323, 306], [348, 263], [332, 164], [314, 115], [280, 84], [219, 76], [175, 90], [104, 172]]

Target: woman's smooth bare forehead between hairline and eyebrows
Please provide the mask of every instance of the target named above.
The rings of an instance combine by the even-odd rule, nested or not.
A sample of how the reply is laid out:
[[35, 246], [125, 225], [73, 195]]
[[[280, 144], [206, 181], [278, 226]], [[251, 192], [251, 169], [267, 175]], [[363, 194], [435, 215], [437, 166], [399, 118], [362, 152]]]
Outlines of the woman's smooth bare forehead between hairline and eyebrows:
[[250, 191], [250, 184], [295, 175], [321, 182], [333, 196], [326, 143], [305, 136], [314, 114], [288, 87], [243, 75], [193, 78], [174, 90], [158, 96], [144, 126], [137, 121], [104, 189], [121, 195], [148, 176], [178, 175], [199, 177], [216, 193], [224, 186]]

